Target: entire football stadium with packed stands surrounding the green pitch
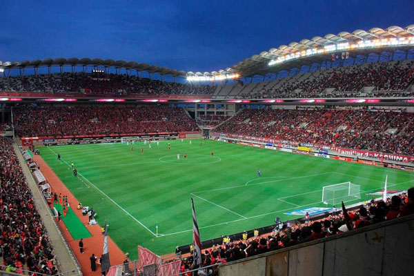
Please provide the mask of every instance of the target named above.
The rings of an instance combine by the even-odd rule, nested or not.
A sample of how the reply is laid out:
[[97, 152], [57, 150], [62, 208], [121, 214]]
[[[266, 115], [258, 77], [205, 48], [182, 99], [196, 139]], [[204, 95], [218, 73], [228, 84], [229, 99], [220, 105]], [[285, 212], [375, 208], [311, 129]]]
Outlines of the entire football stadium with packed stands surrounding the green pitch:
[[414, 25], [296, 39], [0, 61], [1, 272], [410, 275]]

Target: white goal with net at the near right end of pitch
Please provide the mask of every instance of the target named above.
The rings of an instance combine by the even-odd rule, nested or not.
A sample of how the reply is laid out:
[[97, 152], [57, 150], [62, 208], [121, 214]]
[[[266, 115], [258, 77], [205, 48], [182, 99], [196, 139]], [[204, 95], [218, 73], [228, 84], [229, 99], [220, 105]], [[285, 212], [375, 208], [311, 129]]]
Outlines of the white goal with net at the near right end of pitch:
[[349, 181], [322, 188], [322, 202], [324, 204], [337, 205], [341, 201], [346, 202], [360, 198], [359, 185], [352, 184]]

